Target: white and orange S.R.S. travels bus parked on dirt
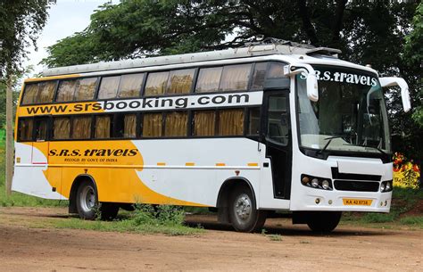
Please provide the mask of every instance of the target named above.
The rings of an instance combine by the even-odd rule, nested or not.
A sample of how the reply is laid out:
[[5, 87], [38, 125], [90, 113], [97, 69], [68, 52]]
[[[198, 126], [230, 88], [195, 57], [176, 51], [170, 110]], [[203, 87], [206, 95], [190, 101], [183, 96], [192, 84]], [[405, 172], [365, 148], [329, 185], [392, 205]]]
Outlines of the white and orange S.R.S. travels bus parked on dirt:
[[237, 231], [281, 211], [313, 231], [389, 212], [379, 78], [292, 42], [47, 69], [24, 81], [12, 190], [115, 218], [134, 203], [209, 207]]

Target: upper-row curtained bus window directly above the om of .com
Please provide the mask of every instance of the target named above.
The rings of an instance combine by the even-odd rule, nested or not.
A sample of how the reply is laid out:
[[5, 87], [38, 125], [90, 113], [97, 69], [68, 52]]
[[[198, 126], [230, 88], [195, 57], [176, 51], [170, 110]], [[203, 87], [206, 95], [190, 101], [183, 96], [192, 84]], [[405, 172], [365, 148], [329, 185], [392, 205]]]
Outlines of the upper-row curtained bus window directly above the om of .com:
[[223, 92], [245, 91], [248, 87], [250, 72], [251, 63], [225, 66], [223, 68], [219, 90]]

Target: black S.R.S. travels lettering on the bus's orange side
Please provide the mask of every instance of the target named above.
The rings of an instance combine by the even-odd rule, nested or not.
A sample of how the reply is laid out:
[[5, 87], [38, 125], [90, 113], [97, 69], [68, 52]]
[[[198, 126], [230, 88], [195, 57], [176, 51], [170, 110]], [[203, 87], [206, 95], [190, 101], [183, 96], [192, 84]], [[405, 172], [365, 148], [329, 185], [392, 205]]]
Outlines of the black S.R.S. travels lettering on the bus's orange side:
[[50, 157], [60, 157], [71, 162], [117, 162], [119, 157], [133, 157], [137, 154], [137, 149], [51, 149], [48, 152]]

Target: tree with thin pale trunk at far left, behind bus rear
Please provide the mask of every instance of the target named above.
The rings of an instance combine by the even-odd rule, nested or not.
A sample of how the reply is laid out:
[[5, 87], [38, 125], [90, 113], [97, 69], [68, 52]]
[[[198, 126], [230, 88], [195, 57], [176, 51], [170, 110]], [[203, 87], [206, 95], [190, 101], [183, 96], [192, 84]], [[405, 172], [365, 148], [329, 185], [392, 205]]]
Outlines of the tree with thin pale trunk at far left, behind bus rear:
[[12, 185], [12, 85], [21, 62], [27, 56], [26, 47], [36, 46], [37, 35], [46, 24], [51, 0], [4, 0], [0, 2], [0, 84], [6, 96], [6, 191]]

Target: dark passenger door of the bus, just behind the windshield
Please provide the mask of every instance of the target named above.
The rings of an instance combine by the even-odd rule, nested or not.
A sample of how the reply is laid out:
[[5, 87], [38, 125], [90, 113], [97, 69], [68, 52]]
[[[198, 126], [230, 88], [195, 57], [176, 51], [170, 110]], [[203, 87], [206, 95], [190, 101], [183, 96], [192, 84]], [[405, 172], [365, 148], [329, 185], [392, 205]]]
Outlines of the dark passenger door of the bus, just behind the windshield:
[[289, 199], [292, 165], [289, 92], [265, 92], [264, 112], [263, 132], [266, 157], [271, 163], [273, 194], [275, 198]]

